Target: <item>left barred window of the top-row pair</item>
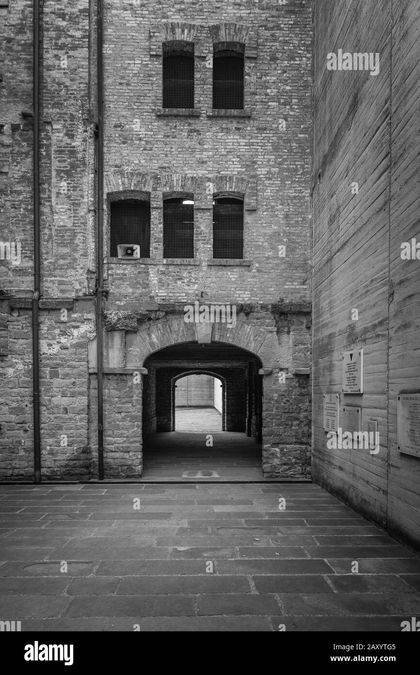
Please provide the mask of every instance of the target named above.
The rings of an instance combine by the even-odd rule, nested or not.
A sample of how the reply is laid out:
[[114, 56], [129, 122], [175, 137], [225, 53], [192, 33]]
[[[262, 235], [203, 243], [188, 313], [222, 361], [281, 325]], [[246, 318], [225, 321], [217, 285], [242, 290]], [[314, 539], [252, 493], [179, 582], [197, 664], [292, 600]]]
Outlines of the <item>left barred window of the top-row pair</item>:
[[163, 43], [163, 108], [194, 107], [194, 45]]

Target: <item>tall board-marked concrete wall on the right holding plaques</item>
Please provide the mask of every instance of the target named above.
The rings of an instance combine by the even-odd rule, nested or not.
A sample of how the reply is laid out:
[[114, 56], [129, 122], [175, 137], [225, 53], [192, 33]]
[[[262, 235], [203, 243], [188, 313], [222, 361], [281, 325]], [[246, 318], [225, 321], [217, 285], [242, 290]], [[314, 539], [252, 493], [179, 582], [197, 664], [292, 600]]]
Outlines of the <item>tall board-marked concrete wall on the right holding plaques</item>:
[[[419, 239], [418, 43], [417, 1], [315, 5], [313, 477], [417, 545], [420, 460], [398, 452], [396, 410], [400, 391], [420, 389], [419, 261], [400, 257]], [[338, 49], [378, 53], [379, 74], [327, 70]], [[353, 348], [364, 350], [363, 395], [342, 394], [341, 354]], [[362, 429], [378, 421], [378, 454], [328, 450], [330, 393], [361, 407]]]

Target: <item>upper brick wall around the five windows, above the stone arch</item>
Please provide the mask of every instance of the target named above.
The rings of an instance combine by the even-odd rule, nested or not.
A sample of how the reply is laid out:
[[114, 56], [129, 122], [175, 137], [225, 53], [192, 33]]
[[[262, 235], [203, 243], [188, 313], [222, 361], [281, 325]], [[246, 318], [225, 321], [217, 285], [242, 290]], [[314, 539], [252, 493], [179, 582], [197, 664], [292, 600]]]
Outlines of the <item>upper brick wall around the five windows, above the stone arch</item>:
[[[171, 22], [193, 24], [187, 34], [196, 41], [199, 117], [156, 114], [162, 106], [160, 32]], [[250, 117], [212, 116], [210, 57], [217, 30], [210, 26], [224, 22], [247, 29], [245, 109]], [[105, 3], [104, 23], [107, 189], [115, 192], [140, 181], [152, 193], [150, 264], [109, 261], [111, 294], [158, 301], [308, 300], [311, 1], [164, 0], [150, 5], [118, 0]], [[243, 38], [243, 28], [238, 30]], [[284, 131], [280, 118], [286, 120]], [[198, 265], [162, 263], [162, 192], [174, 184], [173, 175], [183, 177], [178, 184], [193, 186]], [[231, 183], [248, 182], [243, 257], [251, 261], [249, 267], [207, 263], [212, 259], [212, 205], [206, 184], [212, 182], [216, 191], [227, 177]], [[279, 257], [279, 246], [286, 246], [285, 257]]]

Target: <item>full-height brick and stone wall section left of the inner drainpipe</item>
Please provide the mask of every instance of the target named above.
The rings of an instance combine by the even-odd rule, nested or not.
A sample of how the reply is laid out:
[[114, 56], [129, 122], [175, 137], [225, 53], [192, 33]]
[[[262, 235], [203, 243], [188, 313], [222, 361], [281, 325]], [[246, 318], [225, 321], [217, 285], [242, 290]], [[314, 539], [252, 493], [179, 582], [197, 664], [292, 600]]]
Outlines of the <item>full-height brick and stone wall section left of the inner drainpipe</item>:
[[[20, 244], [19, 264], [0, 259], [0, 300], [9, 298], [0, 319], [0, 471], [27, 480], [33, 477], [32, 11], [30, 0], [0, 8], [0, 240]], [[89, 3], [41, 3], [40, 14], [42, 479], [86, 479], [94, 309], [91, 301], [73, 305], [71, 298], [92, 291], [94, 275]]]

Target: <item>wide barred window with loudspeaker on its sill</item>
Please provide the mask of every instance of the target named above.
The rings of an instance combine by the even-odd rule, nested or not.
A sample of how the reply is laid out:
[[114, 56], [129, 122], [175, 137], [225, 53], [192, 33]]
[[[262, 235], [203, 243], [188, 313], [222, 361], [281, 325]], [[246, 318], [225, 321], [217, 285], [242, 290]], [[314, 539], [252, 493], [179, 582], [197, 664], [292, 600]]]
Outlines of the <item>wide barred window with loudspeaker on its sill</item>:
[[111, 258], [117, 258], [119, 245], [137, 244], [140, 258], [150, 258], [150, 202], [121, 199], [110, 202]]

